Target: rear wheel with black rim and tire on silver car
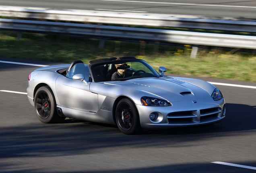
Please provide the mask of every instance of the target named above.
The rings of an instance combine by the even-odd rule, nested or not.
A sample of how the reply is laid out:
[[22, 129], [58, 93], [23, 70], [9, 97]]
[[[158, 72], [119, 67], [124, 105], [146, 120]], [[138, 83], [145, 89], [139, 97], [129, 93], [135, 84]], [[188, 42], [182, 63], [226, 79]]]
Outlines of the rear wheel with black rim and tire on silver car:
[[50, 87], [40, 87], [35, 93], [34, 108], [37, 118], [42, 123], [58, 123], [65, 119], [56, 110], [56, 101]]

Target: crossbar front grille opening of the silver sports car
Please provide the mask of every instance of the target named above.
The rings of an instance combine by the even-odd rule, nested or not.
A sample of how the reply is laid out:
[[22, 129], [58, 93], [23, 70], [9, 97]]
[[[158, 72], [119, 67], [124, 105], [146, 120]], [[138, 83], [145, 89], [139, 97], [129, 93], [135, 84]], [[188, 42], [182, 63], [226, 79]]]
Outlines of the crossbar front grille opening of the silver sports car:
[[199, 111], [179, 111], [169, 113], [167, 119], [169, 124], [186, 125], [196, 123], [207, 123], [219, 119], [221, 116], [221, 108], [201, 109]]

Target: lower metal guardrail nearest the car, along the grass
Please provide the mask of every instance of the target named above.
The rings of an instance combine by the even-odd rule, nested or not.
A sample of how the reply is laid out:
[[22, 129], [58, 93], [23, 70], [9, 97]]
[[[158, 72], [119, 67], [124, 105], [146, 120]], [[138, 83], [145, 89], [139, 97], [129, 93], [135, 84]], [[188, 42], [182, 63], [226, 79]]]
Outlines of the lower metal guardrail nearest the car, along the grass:
[[256, 36], [0, 19], [1, 30], [256, 49]]

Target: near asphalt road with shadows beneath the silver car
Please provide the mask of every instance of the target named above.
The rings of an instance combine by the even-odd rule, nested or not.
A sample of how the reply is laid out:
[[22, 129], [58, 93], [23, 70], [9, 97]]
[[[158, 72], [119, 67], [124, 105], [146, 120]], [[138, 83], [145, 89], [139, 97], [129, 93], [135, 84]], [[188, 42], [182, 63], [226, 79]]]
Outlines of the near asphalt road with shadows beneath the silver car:
[[[124, 135], [115, 126], [74, 119], [61, 124], [39, 122], [27, 95], [22, 94], [29, 73], [36, 68], [0, 62], [0, 173], [256, 172], [256, 89], [217, 85], [227, 103], [221, 123]], [[254, 82], [203, 79], [256, 86]], [[239, 167], [212, 163], [216, 161]]]

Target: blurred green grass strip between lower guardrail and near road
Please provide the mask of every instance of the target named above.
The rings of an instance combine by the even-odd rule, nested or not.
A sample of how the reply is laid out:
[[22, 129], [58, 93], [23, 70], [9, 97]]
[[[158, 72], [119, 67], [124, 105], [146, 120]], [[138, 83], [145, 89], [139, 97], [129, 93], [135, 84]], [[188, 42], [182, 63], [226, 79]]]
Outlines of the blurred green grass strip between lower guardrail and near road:
[[107, 57], [136, 56], [157, 71], [165, 66], [167, 73], [256, 82], [256, 54], [237, 49], [204, 46], [196, 58], [190, 58], [190, 45], [146, 44], [98, 39], [0, 31], [0, 57], [23, 58], [70, 63]]

